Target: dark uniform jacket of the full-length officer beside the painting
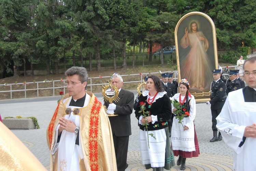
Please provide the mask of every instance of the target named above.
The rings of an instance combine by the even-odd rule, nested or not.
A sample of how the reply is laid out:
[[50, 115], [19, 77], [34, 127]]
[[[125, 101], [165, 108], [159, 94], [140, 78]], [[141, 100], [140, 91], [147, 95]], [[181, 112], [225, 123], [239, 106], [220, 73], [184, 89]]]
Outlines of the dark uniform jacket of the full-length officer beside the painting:
[[211, 83], [211, 109], [222, 109], [226, 100], [225, 89], [226, 85], [221, 79], [219, 79], [216, 84], [215, 81]]

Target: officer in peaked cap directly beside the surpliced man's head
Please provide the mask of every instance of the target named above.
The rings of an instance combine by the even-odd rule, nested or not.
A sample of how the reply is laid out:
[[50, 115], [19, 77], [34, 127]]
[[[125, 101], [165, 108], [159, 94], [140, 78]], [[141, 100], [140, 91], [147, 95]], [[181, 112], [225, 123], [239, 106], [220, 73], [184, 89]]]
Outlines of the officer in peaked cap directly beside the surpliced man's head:
[[237, 72], [234, 70], [229, 70], [229, 79], [226, 82], [226, 95], [229, 92], [235, 91], [241, 88], [240, 82], [237, 80]]

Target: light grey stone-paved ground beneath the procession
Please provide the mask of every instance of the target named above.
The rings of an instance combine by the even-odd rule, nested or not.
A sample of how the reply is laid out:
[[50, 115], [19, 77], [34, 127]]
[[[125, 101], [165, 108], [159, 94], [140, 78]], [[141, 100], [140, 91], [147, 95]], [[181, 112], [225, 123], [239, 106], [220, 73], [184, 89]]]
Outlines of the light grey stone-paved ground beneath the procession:
[[[101, 94], [96, 94], [101, 100]], [[50, 152], [46, 143], [46, 128], [57, 107], [60, 97], [39, 97], [27, 99], [0, 100], [0, 113], [2, 118], [6, 116], [16, 117], [21, 115], [26, 118], [35, 116], [38, 119], [40, 129], [12, 130], [12, 132], [29, 148], [42, 165], [49, 169]], [[200, 147], [199, 157], [187, 158], [185, 171], [231, 171], [232, 150], [224, 141], [210, 142], [213, 137], [211, 129], [211, 110], [205, 103], [196, 104], [195, 127]], [[139, 150], [139, 127], [134, 113], [131, 114], [132, 135], [129, 138], [128, 159], [126, 171], [144, 171]], [[177, 157], [175, 157], [177, 161]], [[152, 169], [149, 169], [152, 170]], [[171, 171], [180, 170], [180, 166], [174, 166]]]

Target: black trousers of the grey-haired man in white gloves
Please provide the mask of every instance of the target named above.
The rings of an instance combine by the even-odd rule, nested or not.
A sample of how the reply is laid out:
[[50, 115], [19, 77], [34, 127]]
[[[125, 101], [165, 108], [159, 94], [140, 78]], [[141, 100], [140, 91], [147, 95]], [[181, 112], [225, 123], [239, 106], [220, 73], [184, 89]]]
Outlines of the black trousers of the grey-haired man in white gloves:
[[113, 134], [113, 141], [116, 154], [117, 171], [125, 171], [129, 136], [117, 137]]

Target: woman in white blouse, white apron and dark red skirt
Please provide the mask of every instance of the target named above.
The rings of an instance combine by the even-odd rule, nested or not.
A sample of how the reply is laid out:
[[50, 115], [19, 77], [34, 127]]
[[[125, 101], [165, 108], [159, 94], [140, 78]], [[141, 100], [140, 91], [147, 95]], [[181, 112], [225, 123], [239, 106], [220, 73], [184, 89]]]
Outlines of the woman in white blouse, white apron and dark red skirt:
[[[198, 157], [200, 154], [194, 119], [196, 116], [196, 100], [189, 93], [189, 83], [182, 79], [179, 83], [180, 93], [175, 94], [171, 100], [180, 103], [182, 114], [185, 114], [182, 124], [179, 119], [173, 118], [172, 123], [172, 149], [174, 156], [179, 156], [177, 165], [181, 165], [181, 170], [186, 169], [186, 158]], [[172, 111], [177, 110], [173, 107]], [[177, 116], [177, 115], [176, 115]], [[184, 128], [183, 128], [184, 125]]]

